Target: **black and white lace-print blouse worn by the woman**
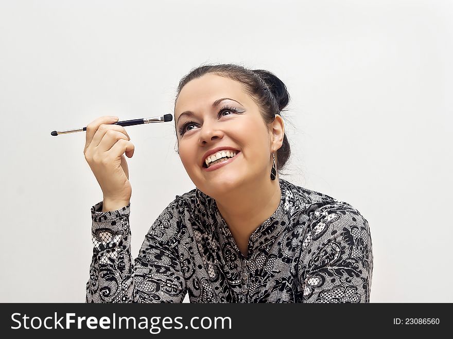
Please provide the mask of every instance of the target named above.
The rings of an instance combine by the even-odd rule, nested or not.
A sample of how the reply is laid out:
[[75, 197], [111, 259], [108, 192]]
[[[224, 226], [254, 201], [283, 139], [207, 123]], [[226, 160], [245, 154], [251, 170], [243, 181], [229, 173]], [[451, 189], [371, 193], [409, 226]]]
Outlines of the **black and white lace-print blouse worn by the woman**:
[[[369, 302], [368, 221], [350, 204], [279, 179], [280, 204], [243, 256], [198, 189], [176, 195], [130, 252], [130, 203], [91, 209], [93, 258], [86, 302]], [[197, 201], [198, 198], [198, 201]]]

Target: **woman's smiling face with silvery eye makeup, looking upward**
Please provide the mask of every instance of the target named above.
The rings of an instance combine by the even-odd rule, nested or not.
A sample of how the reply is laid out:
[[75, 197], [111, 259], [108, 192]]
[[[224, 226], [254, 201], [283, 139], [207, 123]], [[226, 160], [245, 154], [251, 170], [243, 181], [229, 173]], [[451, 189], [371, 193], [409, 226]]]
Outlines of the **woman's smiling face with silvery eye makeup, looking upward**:
[[[240, 82], [215, 74], [189, 81], [178, 96], [175, 120], [181, 161], [205, 194], [221, 197], [269, 177], [272, 133]], [[206, 168], [206, 155], [222, 149], [236, 155]]]

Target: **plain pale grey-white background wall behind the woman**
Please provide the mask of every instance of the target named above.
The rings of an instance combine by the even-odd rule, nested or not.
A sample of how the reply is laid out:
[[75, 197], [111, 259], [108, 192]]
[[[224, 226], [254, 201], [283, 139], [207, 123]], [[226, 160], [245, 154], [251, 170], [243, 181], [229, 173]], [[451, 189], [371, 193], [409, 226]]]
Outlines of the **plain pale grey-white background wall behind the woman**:
[[[372, 302], [453, 302], [450, 1], [0, 1], [0, 301], [81, 302], [102, 192], [86, 126], [173, 113], [202, 63], [275, 73], [291, 95], [284, 179], [369, 221]], [[195, 186], [173, 122], [128, 127], [132, 254]]]

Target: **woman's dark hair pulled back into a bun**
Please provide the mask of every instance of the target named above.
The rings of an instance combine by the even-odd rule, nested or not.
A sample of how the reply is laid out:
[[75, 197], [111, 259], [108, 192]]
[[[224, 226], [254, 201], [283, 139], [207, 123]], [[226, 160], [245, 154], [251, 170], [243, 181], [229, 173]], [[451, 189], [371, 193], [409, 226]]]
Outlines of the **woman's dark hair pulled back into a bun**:
[[[190, 80], [197, 79], [208, 73], [214, 73], [218, 76], [230, 78], [242, 83], [246, 92], [260, 108], [261, 115], [266, 123], [274, 121], [275, 114], [281, 115], [281, 112], [288, 105], [289, 94], [285, 84], [268, 70], [251, 70], [235, 64], [220, 64], [203, 65], [192, 69], [189, 74], [184, 76], [178, 85], [175, 106], [184, 85]], [[282, 147], [276, 153], [275, 165], [277, 170], [280, 171], [284, 168], [291, 154], [286, 133], [283, 136]]]

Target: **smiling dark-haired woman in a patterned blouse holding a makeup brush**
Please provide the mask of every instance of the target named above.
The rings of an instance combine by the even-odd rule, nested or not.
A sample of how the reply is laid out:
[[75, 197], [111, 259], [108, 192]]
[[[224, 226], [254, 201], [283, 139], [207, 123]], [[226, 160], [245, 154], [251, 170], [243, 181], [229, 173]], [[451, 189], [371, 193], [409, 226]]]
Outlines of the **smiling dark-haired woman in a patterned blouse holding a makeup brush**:
[[350, 204], [278, 177], [290, 154], [284, 83], [207, 65], [178, 87], [178, 153], [196, 188], [177, 195], [131, 258], [134, 146], [117, 118], [86, 129], [103, 192], [92, 207], [87, 302], [369, 302], [369, 225]]

